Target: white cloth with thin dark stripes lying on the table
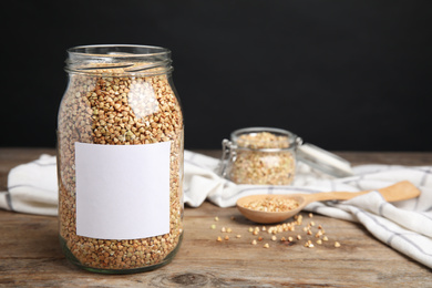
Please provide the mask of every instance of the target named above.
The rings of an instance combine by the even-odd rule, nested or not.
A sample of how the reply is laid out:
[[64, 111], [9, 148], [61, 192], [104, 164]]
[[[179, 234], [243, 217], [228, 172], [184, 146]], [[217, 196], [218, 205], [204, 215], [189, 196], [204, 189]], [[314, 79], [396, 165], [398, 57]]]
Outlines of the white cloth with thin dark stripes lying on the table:
[[[184, 200], [192, 207], [209, 200], [220, 207], [236, 204], [253, 194], [357, 192], [410, 181], [421, 189], [418, 198], [385, 202], [378, 192], [347, 202], [312, 203], [307, 210], [361, 223], [378, 239], [432, 268], [432, 166], [362, 165], [354, 176], [333, 178], [299, 163], [291, 186], [236, 185], [217, 174], [219, 160], [185, 151]], [[0, 208], [20, 213], [56, 215], [58, 186], [55, 157], [12, 168], [8, 191], [0, 192]]]

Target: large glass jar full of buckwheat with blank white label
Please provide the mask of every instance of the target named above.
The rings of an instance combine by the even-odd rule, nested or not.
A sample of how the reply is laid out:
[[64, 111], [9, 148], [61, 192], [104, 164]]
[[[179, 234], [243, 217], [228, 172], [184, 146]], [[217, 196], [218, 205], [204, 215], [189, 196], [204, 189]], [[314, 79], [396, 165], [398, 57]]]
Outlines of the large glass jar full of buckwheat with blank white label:
[[66, 258], [81, 268], [151, 270], [179, 248], [184, 127], [171, 63], [157, 47], [68, 50], [59, 225]]

